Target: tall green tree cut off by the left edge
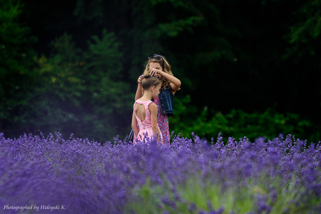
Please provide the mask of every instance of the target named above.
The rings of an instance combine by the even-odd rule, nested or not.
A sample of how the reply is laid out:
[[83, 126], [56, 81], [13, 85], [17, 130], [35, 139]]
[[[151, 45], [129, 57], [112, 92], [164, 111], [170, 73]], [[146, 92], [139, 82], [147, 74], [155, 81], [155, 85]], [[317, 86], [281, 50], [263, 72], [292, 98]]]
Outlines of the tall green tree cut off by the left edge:
[[30, 43], [35, 39], [20, 23], [22, 8], [19, 1], [0, 1], [0, 131], [9, 134], [30, 132], [30, 85], [35, 77]]

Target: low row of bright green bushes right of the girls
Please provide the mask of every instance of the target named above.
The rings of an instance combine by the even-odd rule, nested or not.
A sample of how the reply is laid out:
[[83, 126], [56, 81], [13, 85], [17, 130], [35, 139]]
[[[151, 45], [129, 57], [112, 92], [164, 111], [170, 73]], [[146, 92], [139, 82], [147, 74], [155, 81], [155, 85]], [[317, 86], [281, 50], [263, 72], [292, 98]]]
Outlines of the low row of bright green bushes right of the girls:
[[201, 111], [197, 110], [191, 104], [189, 95], [182, 100], [175, 100], [174, 105], [178, 109], [177, 116], [170, 117], [169, 124], [176, 134], [181, 133], [181, 137], [190, 138], [195, 130], [199, 137], [206, 138], [208, 141], [220, 132], [236, 139], [247, 136], [251, 141], [259, 136], [272, 140], [280, 134], [282, 136], [292, 134], [300, 138], [308, 135], [307, 130], [313, 133], [308, 138], [309, 142], [317, 143], [321, 137], [318, 128], [313, 127], [307, 118], [302, 118], [296, 113], [278, 113], [274, 108], [253, 113], [232, 109], [224, 115], [207, 106]]

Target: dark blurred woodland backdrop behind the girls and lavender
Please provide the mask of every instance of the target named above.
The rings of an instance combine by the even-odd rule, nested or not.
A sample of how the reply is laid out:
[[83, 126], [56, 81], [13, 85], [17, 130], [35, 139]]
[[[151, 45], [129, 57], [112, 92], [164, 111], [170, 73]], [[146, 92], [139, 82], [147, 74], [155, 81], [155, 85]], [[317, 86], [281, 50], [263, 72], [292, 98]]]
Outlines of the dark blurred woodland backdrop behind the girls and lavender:
[[0, 131], [130, 129], [146, 58], [181, 82], [170, 131], [320, 140], [321, 0], [0, 0]]

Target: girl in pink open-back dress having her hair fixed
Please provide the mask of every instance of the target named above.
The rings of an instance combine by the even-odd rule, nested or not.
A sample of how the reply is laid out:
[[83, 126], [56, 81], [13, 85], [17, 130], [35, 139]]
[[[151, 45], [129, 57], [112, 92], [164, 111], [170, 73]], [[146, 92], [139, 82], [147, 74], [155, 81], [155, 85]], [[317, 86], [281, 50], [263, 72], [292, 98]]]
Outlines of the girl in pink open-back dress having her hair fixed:
[[[163, 143], [163, 136], [157, 124], [157, 105], [151, 101], [160, 93], [160, 77], [146, 76], [142, 81], [144, 95], [134, 103], [132, 128], [137, 140], [143, 140], [144, 136]], [[138, 126], [137, 126], [138, 123]]]

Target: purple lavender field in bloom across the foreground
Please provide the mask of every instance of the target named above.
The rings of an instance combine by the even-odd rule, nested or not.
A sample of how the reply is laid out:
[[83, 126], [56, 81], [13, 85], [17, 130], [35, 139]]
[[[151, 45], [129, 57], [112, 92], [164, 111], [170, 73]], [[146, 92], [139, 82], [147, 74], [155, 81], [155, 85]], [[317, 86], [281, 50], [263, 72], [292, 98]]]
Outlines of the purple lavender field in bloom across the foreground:
[[192, 136], [100, 146], [0, 134], [0, 213], [320, 213], [320, 141]]

